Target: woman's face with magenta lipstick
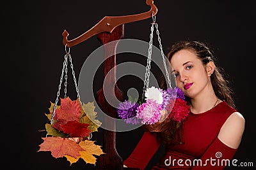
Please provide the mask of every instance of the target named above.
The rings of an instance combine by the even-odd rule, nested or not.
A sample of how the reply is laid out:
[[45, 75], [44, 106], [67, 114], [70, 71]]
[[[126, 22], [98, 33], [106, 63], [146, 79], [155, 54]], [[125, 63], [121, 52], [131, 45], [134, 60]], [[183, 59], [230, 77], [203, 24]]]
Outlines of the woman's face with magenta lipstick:
[[192, 50], [180, 50], [170, 60], [176, 77], [177, 87], [190, 98], [207, 90], [211, 81], [202, 61]]

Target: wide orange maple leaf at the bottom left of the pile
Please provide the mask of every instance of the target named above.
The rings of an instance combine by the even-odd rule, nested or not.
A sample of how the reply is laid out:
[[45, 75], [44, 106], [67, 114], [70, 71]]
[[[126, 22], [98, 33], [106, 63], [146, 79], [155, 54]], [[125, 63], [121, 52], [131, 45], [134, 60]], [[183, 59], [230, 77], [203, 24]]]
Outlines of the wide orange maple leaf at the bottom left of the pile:
[[42, 139], [44, 139], [44, 142], [39, 145], [38, 152], [50, 151], [54, 158], [64, 157], [65, 155], [77, 158], [80, 156], [79, 151], [83, 150], [76, 142], [67, 138], [47, 137]]

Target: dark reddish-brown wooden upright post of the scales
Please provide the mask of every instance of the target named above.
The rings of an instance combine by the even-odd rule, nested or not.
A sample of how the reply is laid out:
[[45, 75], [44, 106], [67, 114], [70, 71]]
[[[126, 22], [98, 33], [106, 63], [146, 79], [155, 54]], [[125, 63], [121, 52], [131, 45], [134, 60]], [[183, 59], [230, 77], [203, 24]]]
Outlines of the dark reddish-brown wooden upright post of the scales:
[[[114, 29], [113, 32], [102, 32], [97, 35], [97, 38], [104, 45], [104, 81], [109, 87], [115, 87], [115, 94], [111, 94], [109, 97], [115, 97], [122, 101], [123, 94], [116, 84], [116, 46], [119, 39], [124, 37], [124, 25], [120, 25]], [[113, 43], [110, 43], [113, 41]], [[111, 56], [111, 57], [108, 57]], [[113, 69], [111, 72], [109, 72]], [[106, 77], [106, 75], [109, 75]], [[116, 110], [111, 106], [104, 97], [103, 89], [97, 92], [97, 103], [99, 103], [101, 109], [109, 117], [116, 118]], [[104, 125], [107, 129], [115, 129], [115, 122], [108, 122], [104, 119]], [[104, 146], [103, 151], [107, 154], [101, 155], [97, 160], [97, 167], [99, 169], [116, 170], [122, 169], [122, 158], [116, 152], [116, 136], [115, 131], [108, 131], [104, 129]]]

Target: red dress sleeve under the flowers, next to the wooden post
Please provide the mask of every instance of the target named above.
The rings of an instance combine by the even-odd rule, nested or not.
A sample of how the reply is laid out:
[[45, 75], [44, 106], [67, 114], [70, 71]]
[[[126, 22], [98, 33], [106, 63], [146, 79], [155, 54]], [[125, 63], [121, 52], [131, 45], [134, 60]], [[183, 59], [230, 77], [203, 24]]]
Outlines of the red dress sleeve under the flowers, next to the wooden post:
[[156, 134], [147, 131], [144, 132], [131, 155], [124, 160], [124, 165], [127, 167], [137, 167], [140, 170], [145, 169], [160, 145], [159, 141], [157, 141]]

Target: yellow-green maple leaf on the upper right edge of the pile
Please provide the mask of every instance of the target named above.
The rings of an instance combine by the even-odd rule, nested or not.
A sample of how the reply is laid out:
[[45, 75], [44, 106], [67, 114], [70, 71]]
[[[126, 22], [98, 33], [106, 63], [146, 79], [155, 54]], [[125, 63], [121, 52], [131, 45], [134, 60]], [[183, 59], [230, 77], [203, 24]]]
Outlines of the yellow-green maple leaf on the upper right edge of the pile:
[[87, 104], [82, 104], [82, 108], [84, 110], [84, 114], [81, 116], [79, 122], [83, 124], [90, 124], [88, 129], [92, 132], [98, 131], [98, 127], [100, 127], [101, 122], [96, 119], [97, 112], [95, 112], [95, 106], [93, 102], [89, 102]]

